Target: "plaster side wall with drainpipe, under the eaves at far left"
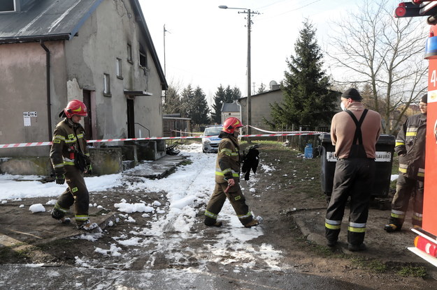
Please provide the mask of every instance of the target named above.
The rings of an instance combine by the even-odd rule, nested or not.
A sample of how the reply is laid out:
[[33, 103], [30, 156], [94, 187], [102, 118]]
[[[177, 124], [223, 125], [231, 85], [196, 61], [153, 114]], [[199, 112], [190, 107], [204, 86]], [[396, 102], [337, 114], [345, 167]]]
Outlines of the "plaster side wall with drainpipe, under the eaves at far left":
[[[62, 42], [45, 43], [50, 50], [52, 126], [66, 101], [65, 58]], [[0, 45], [0, 144], [48, 142], [46, 54], [39, 43]], [[61, 104], [62, 103], [62, 104]], [[23, 112], [36, 112], [24, 126]], [[0, 157], [48, 155], [49, 146], [2, 148]]]

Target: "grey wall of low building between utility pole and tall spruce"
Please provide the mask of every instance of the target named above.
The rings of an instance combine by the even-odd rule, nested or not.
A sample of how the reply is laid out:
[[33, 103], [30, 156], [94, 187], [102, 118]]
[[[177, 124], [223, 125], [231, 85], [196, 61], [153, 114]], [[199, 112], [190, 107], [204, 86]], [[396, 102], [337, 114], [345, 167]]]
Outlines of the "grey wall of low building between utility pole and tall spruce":
[[[260, 129], [269, 130], [268, 126], [264, 123], [263, 117], [267, 120], [271, 120], [271, 109], [269, 104], [273, 104], [273, 102], [282, 102], [283, 96], [282, 91], [270, 91], [267, 93], [262, 93], [260, 95], [252, 96], [250, 98], [250, 110], [251, 114], [251, 125]], [[247, 98], [242, 98], [240, 100], [241, 104], [241, 121], [243, 125], [248, 123], [248, 107], [246, 105]], [[258, 130], [252, 129], [252, 134], [259, 133]]]

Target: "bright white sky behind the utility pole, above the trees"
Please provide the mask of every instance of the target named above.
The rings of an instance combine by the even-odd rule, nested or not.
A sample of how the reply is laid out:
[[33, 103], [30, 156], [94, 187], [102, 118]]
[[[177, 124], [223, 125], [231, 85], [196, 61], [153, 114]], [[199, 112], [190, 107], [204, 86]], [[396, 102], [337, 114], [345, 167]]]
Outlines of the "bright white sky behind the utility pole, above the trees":
[[[217, 87], [238, 86], [247, 93], [247, 14], [220, 9], [250, 8], [252, 15], [252, 91], [280, 82], [286, 60], [306, 17], [317, 28], [322, 47], [329, 25], [361, 0], [140, 0], [145, 20], [169, 84], [200, 86], [211, 102]], [[396, 6], [396, 5], [395, 5]], [[394, 7], [395, 8], [395, 7]], [[164, 61], [164, 24], [165, 61]], [[329, 72], [328, 72], [329, 73]]]

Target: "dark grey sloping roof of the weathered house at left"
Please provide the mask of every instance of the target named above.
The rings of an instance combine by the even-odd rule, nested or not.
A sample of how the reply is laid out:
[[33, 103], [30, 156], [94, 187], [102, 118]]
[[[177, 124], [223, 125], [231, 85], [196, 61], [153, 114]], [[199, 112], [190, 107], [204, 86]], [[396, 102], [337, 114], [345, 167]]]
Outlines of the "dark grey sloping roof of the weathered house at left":
[[[20, 0], [17, 0], [20, 1]], [[22, 1], [22, 0], [21, 0]], [[20, 11], [0, 13], [0, 45], [35, 41], [71, 40], [103, 0], [27, 0]], [[155, 46], [138, 0], [130, 0], [136, 21], [147, 39], [162, 89], [168, 89]]]

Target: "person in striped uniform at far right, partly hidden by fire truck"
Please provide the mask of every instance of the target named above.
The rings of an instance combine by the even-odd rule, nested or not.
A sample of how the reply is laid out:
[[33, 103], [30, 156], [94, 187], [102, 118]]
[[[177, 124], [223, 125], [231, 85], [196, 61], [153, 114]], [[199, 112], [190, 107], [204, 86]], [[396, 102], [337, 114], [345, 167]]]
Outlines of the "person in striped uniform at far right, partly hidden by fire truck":
[[392, 201], [392, 213], [385, 231], [401, 231], [410, 197], [413, 194], [413, 227], [422, 227], [425, 174], [425, 139], [427, 136], [427, 95], [419, 103], [421, 114], [410, 116], [396, 137], [394, 150], [399, 155], [399, 178]]

